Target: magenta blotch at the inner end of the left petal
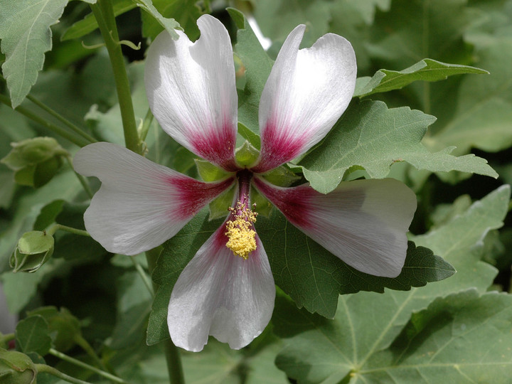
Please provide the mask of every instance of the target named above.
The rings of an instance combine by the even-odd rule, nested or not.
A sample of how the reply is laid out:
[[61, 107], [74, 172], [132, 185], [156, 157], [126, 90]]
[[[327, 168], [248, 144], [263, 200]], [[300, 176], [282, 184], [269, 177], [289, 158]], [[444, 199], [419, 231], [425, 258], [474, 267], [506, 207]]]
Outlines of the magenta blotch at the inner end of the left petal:
[[181, 206], [174, 214], [178, 219], [190, 218], [201, 208], [233, 186], [235, 178], [227, 178], [218, 183], [204, 183], [187, 176], [169, 177], [166, 181], [176, 188]]

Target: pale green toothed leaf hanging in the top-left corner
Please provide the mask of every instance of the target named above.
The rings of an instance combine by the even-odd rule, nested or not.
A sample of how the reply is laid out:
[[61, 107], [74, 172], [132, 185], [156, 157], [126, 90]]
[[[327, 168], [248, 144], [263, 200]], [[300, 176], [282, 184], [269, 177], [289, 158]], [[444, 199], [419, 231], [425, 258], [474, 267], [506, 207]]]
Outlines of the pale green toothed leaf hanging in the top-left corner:
[[57, 23], [68, 0], [1, 0], [1, 51], [6, 55], [2, 73], [15, 108], [25, 99], [38, 72], [44, 53], [51, 49], [50, 26]]

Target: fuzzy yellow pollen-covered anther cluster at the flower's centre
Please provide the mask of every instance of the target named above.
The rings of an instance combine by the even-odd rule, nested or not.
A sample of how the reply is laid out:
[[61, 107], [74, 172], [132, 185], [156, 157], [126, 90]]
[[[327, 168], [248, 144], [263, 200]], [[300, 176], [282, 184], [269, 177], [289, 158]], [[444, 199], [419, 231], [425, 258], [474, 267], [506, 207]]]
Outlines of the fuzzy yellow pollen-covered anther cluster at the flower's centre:
[[252, 223], [256, 223], [257, 213], [237, 203], [236, 208], [230, 208], [235, 220], [226, 223], [226, 232], [229, 240], [226, 247], [233, 251], [233, 254], [247, 260], [250, 252], [256, 249], [256, 232], [252, 230]]

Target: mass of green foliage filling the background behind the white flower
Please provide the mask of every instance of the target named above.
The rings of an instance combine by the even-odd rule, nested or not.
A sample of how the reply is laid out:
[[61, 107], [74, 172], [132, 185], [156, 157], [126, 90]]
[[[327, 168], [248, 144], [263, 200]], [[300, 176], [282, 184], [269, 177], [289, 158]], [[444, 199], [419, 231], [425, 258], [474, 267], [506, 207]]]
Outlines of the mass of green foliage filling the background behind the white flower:
[[[124, 144], [110, 60], [98, 46], [102, 36], [90, 3], [95, 1], [0, 0], [1, 157], [11, 151], [9, 143], [34, 137], [54, 137], [70, 154], [87, 137]], [[259, 148], [262, 88], [287, 34], [305, 23], [304, 47], [329, 32], [351, 41], [358, 82], [353, 102], [328, 137], [288, 164], [288, 171], [324, 193], [359, 177], [395, 177], [417, 193], [406, 268], [397, 279], [354, 271], [308, 243], [275, 210], [262, 215], [257, 229], [270, 244], [265, 247], [280, 287], [271, 324], [242, 351], [212, 339], [201, 353], [183, 353], [188, 383], [508, 382], [511, 0], [112, 4], [119, 38], [142, 46], [122, 50], [135, 117], [150, 124], [149, 159], [197, 176], [193, 154], [146, 119], [144, 51], [160, 31], [174, 33], [181, 26], [196, 39], [196, 19], [203, 13], [225, 23], [241, 74], [239, 133]], [[267, 51], [244, 14], [228, 6], [254, 16], [272, 41]], [[92, 383], [105, 378], [58, 353], [129, 383], [168, 382], [159, 341], [169, 337], [169, 296], [218, 221], [208, 221], [205, 210], [166, 242], [152, 276], [159, 285], [154, 300], [137, 273], [148, 267], [144, 257], [134, 263], [90, 238], [60, 231], [48, 262], [35, 273], [14, 274], [9, 259], [23, 233], [53, 223], [85, 229], [87, 193], [67, 157], [55, 149], [48, 153], [59, 160], [45, 163], [51, 179], [42, 186], [36, 177], [41, 163], [17, 163], [15, 169], [0, 164], [0, 281], [9, 311], [21, 319], [16, 349]], [[93, 189], [99, 186], [90, 182]], [[294, 257], [283, 257], [287, 248], [276, 232], [294, 239]], [[449, 277], [452, 267], [457, 273]], [[6, 346], [0, 337], [0, 348]], [[38, 383], [56, 382], [38, 375]]]

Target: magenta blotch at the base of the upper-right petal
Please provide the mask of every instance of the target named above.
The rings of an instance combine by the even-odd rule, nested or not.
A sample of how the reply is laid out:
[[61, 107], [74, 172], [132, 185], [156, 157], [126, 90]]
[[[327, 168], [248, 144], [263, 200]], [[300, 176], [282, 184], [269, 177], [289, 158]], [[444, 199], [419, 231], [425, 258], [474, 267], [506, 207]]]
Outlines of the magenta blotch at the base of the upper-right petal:
[[301, 153], [306, 142], [305, 134], [292, 136], [288, 134], [286, 128], [278, 129], [277, 124], [267, 122], [267, 127], [262, 134], [260, 163], [252, 171], [264, 173], [294, 159]]

